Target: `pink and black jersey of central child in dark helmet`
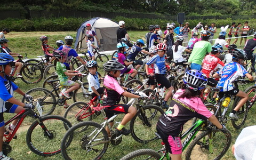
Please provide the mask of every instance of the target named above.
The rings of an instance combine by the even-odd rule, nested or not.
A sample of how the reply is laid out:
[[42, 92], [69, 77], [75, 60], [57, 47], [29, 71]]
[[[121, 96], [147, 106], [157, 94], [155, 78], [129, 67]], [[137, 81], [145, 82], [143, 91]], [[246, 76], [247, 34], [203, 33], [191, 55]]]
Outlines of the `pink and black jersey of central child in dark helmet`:
[[103, 99], [103, 106], [117, 105], [121, 100], [121, 94], [124, 89], [119, 85], [117, 80], [109, 75], [104, 78], [103, 86], [105, 87], [105, 98]]

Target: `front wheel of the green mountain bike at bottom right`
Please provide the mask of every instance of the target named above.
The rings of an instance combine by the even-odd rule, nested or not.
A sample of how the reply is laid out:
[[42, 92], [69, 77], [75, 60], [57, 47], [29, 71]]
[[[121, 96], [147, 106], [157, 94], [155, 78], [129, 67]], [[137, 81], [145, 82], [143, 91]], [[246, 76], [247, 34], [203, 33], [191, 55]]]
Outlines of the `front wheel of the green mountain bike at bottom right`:
[[[212, 133], [211, 133], [212, 132]], [[204, 131], [196, 136], [187, 148], [186, 160], [220, 159], [230, 147], [231, 133], [218, 130]], [[209, 151], [209, 137], [212, 137], [212, 152]]]

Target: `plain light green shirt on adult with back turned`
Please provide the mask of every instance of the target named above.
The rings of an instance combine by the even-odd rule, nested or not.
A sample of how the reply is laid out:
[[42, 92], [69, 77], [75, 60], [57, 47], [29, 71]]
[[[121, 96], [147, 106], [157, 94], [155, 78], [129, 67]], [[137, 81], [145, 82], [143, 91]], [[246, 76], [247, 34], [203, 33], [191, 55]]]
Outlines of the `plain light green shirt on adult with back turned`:
[[195, 43], [193, 51], [188, 59], [188, 62], [202, 65], [206, 53], [212, 51], [211, 43], [208, 41], [198, 41]]

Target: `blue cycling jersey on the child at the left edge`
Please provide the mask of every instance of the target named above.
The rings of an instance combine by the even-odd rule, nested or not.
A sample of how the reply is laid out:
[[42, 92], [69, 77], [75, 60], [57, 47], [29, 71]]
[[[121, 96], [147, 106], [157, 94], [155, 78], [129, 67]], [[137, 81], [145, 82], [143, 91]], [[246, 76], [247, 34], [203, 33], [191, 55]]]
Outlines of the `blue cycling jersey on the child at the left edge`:
[[13, 91], [18, 89], [18, 86], [15, 85], [13, 82], [8, 80], [9, 77], [7, 76], [0, 76], [0, 113], [3, 113], [7, 110], [5, 104], [7, 100], [13, 97]]

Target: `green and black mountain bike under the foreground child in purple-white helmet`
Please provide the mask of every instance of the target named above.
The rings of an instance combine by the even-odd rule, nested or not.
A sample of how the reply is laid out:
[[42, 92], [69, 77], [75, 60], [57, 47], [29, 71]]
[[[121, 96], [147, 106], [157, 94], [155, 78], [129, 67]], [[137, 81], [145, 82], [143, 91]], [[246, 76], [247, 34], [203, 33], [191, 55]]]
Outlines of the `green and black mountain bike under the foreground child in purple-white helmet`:
[[[159, 139], [162, 139], [158, 133], [156, 133], [156, 135]], [[231, 133], [228, 130], [223, 133], [216, 129], [216, 127], [208, 121], [199, 119], [196, 123], [194, 123], [193, 126], [191, 126], [181, 135], [181, 140], [182, 151], [187, 148], [184, 156], [186, 160], [221, 159], [221, 157], [226, 154], [230, 147]], [[125, 155], [120, 160], [162, 160], [164, 158], [170, 160], [171, 157], [165, 146], [165, 143], [161, 142], [161, 144], [163, 145], [163, 148], [158, 151], [153, 149], [135, 150], [132, 153]]]

